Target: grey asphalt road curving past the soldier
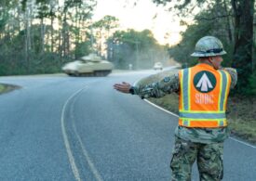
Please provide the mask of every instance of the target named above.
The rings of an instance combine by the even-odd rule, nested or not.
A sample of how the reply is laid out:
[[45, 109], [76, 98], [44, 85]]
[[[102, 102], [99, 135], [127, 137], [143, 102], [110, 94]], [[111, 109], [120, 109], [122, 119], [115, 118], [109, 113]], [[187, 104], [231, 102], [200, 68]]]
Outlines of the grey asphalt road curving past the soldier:
[[[0, 180], [169, 180], [177, 117], [113, 89], [148, 73], [1, 77]], [[256, 180], [255, 146], [225, 142], [223, 180]]]

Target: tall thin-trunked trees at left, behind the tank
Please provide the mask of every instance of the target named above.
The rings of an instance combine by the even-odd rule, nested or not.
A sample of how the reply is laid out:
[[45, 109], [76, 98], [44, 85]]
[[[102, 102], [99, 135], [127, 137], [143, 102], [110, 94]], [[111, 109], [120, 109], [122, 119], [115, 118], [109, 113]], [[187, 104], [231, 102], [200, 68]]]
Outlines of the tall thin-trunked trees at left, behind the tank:
[[66, 61], [87, 55], [95, 2], [1, 0], [0, 75], [60, 72]]

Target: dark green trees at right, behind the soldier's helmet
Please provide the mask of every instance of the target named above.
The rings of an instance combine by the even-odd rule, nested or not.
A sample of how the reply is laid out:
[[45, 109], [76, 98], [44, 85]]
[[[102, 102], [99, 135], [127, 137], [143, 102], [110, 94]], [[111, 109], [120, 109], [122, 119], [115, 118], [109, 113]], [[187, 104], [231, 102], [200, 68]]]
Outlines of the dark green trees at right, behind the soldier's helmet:
[[[250, 94], [248, 90], [251, 88], [249, 84], [252, 78], [249, 77], [255, 65], [255, 63], [253, 65], [252, 28], [255, 0], [176, 0], [177, 4], [174, 6], [168, 4], [168, 2], [174, 3], [174, 0], [153, 1], [156, 4], [168, 6], [169, 9], [179, 10], [178, 14], [182, 17], [190, 15], [195, 6], [200, 6], [201, 10], [195, 16], [195, 24], [188, 26], [187, 31], [182, 34], [180, 45], [170, 48], [170, 55], [185, 66], [193, 65], [195, 60], [187, 55], [192, 53], [194, 49], [192, 45], [195, 45], [196, 40], [199, 39], [198, 35], [216, 36], [221, 39], [224, 49], [228, 52], [224, 57], [223, 66], [232, 66], [237, 70], [239, 77], [237, 93]], [[182, 24], [185, 23], [182, 22]], [[182, 55], [179, 55], [180, 52]]]

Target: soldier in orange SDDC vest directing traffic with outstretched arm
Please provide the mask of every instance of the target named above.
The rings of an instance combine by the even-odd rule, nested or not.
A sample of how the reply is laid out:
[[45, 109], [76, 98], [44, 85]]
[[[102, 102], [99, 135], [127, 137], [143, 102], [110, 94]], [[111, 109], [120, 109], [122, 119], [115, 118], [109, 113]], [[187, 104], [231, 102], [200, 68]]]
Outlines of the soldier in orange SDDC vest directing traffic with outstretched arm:
[[172, 180], [191, 180], [195, 160], [200, 180], [222, 179], [223, 141], [229, 135], [226, 102], [237, 80], [235, 69], [221, 67], [224, 54], [219, 39], [205, 36], [196, 43], [191, 55], [198, 58], [194, 67], [153, 84], [131, 86], [123, 82], [114, 85], [117, 91], [141, 98], [179, 93], [179, 125], [170, 162]]

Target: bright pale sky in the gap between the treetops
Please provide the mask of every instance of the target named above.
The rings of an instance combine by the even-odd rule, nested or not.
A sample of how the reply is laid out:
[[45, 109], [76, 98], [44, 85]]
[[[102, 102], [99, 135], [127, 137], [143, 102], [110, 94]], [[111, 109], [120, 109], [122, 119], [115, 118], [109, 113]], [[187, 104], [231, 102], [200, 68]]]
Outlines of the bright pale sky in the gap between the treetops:
[[[105, 15], [119, 19], [121, 29], [142, 31], [149, 29], [154, 33], [159, 44], [175, 45], [181, 40], [179, 32], [185, 27], [180, 26], [180, 19], [156, 6], [152, 0], [138, 0], [136, 6], [132, 0], [98, 0], [94, 11], [94, 20], [102, 19]], [[155, 16], [156, 15], [156, 16]]]

